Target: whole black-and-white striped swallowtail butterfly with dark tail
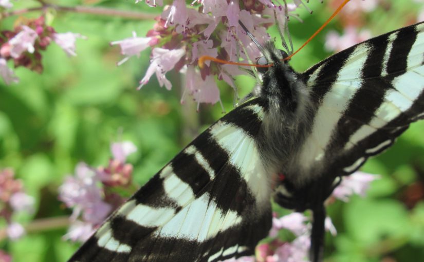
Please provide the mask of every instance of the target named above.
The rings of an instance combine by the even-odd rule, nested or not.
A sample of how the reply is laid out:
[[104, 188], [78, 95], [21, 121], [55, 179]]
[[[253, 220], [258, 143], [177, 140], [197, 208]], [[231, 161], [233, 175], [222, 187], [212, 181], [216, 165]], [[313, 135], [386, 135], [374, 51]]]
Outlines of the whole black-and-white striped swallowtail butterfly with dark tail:
[[[70, 262], [219, 261], [251, 255], [270, 199], [313, 212], [322, 257], [324, 200], [340, 176], [424, 118], [424, 23], [295, 72], [269, 43], [263, 85], [200, 134], [122, 205]], [[273, 179], [273, 174], [285, 179]]]

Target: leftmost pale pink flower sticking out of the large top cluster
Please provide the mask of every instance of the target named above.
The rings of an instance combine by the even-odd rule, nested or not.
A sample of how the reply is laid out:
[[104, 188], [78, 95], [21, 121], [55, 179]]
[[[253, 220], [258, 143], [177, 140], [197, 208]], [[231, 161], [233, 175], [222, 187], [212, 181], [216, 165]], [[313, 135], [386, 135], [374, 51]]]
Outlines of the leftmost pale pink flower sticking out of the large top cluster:
[[135, 31], [133, 31], [132, 38], [126, 38], [124, 40], [111, 42], [110, 45], [119, 45], [121, 53], [126, 55], [124, 59], [118, 62], [118, 66], [125, 63], [133, 55], [140, 57], [140, 52], [150, 46], [152, 38], [139, 38]]

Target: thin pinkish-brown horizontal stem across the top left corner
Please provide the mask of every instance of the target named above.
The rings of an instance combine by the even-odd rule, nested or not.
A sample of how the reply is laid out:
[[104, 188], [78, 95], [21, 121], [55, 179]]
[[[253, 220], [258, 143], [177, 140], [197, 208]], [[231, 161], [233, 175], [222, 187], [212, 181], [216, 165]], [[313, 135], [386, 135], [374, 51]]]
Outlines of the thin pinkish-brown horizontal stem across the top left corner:
[[73, 12], [73, 13], [85, 13], [85, 14], [96, 14], [96, 15], [105, 15], [105, 16], [120, 16], [126, 19], [134, 19], [134, 20], [148, 20], [153, 19], [158, 14], [155, 13], [141, 13], [134, 11], [123, 11], [112, 8], [103, 8], [103, 7], [86, 7], [86, 6], [57, 6], [52, 4], [44, 4], [41, 7], [32, 7], [32, 8], [24, 8], [20, 10], [14, 10], [11, 12], [5, 12], [0, 15], [1, 18], [21, 15], [29, 12], [35, 11], [44, 11], [46, 9], [54, 9], [58, 12]]

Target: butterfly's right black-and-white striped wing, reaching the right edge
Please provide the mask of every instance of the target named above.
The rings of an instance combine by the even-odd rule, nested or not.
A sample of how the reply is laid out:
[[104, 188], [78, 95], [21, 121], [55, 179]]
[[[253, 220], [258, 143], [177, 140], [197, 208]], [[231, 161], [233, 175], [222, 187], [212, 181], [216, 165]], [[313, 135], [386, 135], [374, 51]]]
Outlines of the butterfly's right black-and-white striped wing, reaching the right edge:
[[351, 174], [424, 117], [423, 31], [420, 23], [377, 36], [303, 73], [318, 110], [302, 165]]

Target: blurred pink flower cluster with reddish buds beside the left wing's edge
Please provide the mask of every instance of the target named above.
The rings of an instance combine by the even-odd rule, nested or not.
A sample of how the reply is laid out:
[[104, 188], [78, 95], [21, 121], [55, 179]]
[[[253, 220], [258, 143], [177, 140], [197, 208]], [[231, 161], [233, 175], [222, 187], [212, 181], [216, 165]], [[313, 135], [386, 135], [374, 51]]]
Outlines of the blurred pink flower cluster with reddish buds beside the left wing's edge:
[[113, 158], [108, 166], [95, 168], [81, 162], [75, 175], [67, 176], [60, 186], [59, 199], [73, 209], [66, 239], [85, 241], [110, 212], [125, 201], [113, 189], [131, 184], [133, 166], [125, 161], [137, 148], [124, 141], [113, 143], [111, 151]]

